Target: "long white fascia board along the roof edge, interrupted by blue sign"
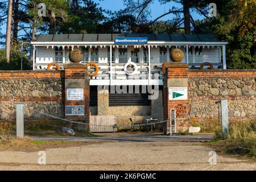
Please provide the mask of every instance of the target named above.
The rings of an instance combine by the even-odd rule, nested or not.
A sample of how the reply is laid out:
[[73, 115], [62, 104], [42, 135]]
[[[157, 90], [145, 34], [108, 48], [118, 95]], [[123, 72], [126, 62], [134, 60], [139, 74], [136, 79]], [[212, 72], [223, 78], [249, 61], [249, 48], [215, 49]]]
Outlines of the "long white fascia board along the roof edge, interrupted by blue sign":
[[[35, 46], [88, 46], [88, 45], [102, 45], [102, 46], [109, 46], [109, 45], [118, 45], [114, 44], [114, 42], [33, 42], [31, 41], [32, 45]], [[222, 46], [228, 44], [228, 42], [161, 42], [161, 41], [148, 41], [147, 45], [212, 45], [212, 46]], [[119, 44], [123, 46], [125, 44]], [[127, 44], [129, 45], [129, 44]], [[133, 45], [133, 44], [131, 44]]]

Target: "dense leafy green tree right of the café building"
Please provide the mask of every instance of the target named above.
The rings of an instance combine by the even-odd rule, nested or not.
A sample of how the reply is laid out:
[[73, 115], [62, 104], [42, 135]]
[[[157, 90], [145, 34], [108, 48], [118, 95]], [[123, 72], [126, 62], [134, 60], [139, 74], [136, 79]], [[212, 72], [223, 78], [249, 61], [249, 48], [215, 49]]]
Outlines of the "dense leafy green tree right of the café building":
[[[197, 30], [200, 34], [212, 33], [219, 40], [229, 43], [226, 46], [226, 63], [229, 69], [255, 69], [255, 34], [254, 27], [249, 25], [255, 18], [251, 17], [252, 14], [244, 16], [243, 13], [238, 13], [241, 7], [237, 5], [236, 2], [229, 1], [218, 9], [216, 18], [196, 21]], [[242, 7], [242, 10], [245, 9]], [[243, 29], [245, 26], [246, 30]]]

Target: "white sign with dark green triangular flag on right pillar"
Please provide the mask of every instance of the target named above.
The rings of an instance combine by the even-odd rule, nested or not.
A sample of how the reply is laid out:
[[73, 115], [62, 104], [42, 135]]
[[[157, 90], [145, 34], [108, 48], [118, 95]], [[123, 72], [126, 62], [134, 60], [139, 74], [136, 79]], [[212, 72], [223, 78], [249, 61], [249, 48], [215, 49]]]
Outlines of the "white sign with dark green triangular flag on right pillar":
[[169, 87], [168, 100], [188, 100], [187, 87]]

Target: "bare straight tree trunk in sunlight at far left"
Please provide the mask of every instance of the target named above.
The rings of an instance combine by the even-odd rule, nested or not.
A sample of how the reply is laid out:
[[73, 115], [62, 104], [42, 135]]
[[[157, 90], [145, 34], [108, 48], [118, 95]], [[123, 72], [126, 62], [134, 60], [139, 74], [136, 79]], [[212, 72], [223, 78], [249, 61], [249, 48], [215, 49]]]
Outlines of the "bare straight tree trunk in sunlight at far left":
[[11, 54], [11, 28], [13, 25], [13, 0], [8, 1], [8, 15], [6, 24], [6, 59], [10, 61]]

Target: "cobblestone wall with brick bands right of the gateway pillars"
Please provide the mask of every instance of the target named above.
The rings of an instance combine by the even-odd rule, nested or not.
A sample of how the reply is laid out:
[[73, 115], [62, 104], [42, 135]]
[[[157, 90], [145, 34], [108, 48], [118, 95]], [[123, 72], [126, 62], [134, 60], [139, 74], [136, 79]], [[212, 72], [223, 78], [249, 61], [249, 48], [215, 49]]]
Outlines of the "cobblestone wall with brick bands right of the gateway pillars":
[[189, 71], [189, 117], [204, 121], [218, 118], [220, 104], [228, 100], [232, 120], [256, 118], [255, 71]]

